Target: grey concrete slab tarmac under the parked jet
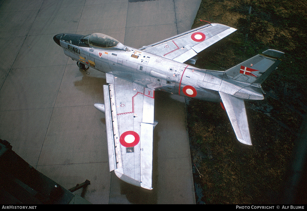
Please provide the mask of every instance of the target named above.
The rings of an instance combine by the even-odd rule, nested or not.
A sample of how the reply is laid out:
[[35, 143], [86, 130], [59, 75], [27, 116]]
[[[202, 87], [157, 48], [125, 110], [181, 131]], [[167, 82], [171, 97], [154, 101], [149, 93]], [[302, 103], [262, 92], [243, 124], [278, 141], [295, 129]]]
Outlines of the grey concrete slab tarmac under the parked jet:
[[[156, 92], [153, 190], [109, 172], [105, 75], [79, 70], [52, 37], [100, 32], [140, 48], [191, 29], [200, 0], [0, 0], [0, 138], [93, 204], [195, 204], [184, 98]], [[75, 194], [81, 194], [75, 192]]]

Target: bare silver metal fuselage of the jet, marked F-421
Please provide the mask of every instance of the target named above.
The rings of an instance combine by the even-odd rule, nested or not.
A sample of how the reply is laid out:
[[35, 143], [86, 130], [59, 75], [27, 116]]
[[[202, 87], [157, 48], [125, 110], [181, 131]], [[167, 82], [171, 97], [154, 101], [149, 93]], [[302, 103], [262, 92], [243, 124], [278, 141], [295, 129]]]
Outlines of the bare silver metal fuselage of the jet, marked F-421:
[[132, 47], [80, 47], [62, 40], [60, 45], [65, 55], [75, 61], [150, 89], [214, 102], [221, 101], [219, 91], [234, 95], [240, 90], [245, 93], [242, 99], [263, 99], [260, 85], [251, 87], [228, 79], [223, 71], [199, 69]]

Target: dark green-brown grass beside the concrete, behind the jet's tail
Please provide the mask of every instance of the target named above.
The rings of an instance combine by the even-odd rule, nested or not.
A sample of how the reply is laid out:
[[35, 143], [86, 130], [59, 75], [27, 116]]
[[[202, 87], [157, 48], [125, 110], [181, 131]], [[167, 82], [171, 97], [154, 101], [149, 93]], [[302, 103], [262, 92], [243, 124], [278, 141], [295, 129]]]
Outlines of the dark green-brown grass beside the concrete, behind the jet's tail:
[[227, 70], [267, 49], [285, 56], [262, 84], [265, 100], [246, 103], [253, 146], [236, 140], [220, 104], [189, 101], [192, 165], [201, 174], [194, 181], [203, 190], [196, 201], [276, 203], [307, 111], [307, 1], [203, 0], [193, 28], [206, 24], [199, 19], [238, 29], [200, 53], [200, 68]]

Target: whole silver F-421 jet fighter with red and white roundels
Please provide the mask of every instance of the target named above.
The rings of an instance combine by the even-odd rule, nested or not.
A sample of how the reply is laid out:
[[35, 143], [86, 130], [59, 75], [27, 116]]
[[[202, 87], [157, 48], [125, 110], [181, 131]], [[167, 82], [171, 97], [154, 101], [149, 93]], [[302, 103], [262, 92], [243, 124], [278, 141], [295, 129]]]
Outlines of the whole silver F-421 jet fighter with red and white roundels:
[[221, 102], [237, 139], [252, 145], [244, 100], [264, 99], [261, 84], [284, 53], [269, 49], [226, 71], [192, 66], [200, 51], [235, 31], [206, 24], [140, 49], [100, 33], [53, 37], [79, 68], [106, 74], [104, 104], [94, 106], [105, 113], [110, 171], [127, 183], [153, 188], [156, 90]]

